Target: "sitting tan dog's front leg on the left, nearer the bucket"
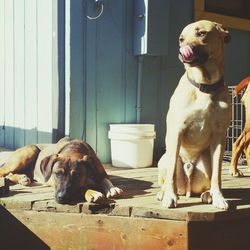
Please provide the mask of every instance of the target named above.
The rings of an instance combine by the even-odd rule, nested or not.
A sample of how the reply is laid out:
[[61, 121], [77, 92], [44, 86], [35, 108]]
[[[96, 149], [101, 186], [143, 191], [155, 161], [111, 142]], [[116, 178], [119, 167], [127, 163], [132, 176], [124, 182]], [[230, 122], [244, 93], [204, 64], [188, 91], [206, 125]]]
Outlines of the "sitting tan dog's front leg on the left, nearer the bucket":
[[167, 173], [165, 181], [165, 192], [162, 199], [162, 205], [167, 208], [177, 206], [177, 188], [175, 181], [175, 171], [178, 163], [182, 133], [171, 131], [166, 136], [167, 147]]

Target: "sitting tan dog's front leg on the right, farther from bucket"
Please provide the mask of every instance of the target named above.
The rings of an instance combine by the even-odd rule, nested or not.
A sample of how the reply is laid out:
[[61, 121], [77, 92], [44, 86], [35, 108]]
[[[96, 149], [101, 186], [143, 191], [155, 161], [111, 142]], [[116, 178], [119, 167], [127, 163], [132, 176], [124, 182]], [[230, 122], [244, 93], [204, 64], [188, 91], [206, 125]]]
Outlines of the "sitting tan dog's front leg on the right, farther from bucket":
[[225, 136], [224, 134], [215, 134], [210, 146], [211, 149], [211, 164], [212, 164], [212, 178], [210, 194], [212, 196], [213, 206], [227, 210], [228, 202], [224, 199], [221, 193], [221, 169], [222, 159], [225, 150]]

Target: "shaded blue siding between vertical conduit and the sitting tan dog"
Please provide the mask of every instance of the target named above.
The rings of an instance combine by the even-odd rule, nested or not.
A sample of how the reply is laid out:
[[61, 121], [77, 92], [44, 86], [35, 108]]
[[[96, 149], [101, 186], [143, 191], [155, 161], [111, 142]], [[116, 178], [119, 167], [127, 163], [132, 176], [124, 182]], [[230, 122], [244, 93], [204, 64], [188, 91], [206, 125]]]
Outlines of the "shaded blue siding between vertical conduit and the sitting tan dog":
[[178, 84], [184, 67], [178, 59], [178, 39], [183, 27], [193, 21], [192, 0], [171, 0], [169, 4], [168, 55], [145, 57], [141, 122], [156, 125], [155, 157], [165, 149], [166, 113], [170, 97]]

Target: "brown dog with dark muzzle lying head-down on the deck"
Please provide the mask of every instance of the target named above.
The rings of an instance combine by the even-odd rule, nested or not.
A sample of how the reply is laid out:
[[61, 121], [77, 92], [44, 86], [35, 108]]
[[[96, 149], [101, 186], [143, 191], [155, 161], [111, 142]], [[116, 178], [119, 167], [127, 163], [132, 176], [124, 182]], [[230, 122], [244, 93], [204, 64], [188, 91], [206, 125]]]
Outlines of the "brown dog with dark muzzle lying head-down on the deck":
[[81, 140], [63, 138], [56, 144], [29, 145], [9, 156], [4, 154], [7, 159], [3, 160], [0, 176], [13, 184], [37, 181], [54, 186], [55, 199], [61, 204], [83, 197], [98, 203], [123, 192], [113, 186], [94, 150]]

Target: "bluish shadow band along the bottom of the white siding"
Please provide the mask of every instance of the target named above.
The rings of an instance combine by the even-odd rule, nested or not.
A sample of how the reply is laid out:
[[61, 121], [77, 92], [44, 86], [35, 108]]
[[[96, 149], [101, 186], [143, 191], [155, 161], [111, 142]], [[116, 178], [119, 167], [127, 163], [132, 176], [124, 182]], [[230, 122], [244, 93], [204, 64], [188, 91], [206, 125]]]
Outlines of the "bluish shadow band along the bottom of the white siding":
[[39, 131], [37, 128], [22, 129], [9, 126], [0, 127], [0, 146], [16, 149], [35, 143], [52, 143], [61, 139], [64, 134], [53, 129], [51, 132]]

